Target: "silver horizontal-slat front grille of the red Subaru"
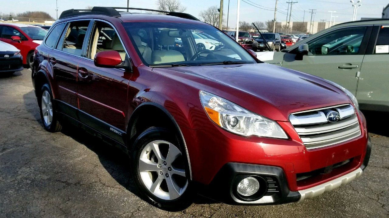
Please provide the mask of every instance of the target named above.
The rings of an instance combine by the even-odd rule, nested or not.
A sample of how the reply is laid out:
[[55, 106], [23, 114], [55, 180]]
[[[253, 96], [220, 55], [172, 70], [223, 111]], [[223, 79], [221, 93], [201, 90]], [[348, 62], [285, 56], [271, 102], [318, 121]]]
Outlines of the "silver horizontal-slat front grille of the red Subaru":
[[[329, 122], [330, 112], [338, 112], [340, 120]], [[338, 144], [361, 135], [355, 109], [350, 104], [296, 112], [289, 115], [289, 121], [307, 149]]]

